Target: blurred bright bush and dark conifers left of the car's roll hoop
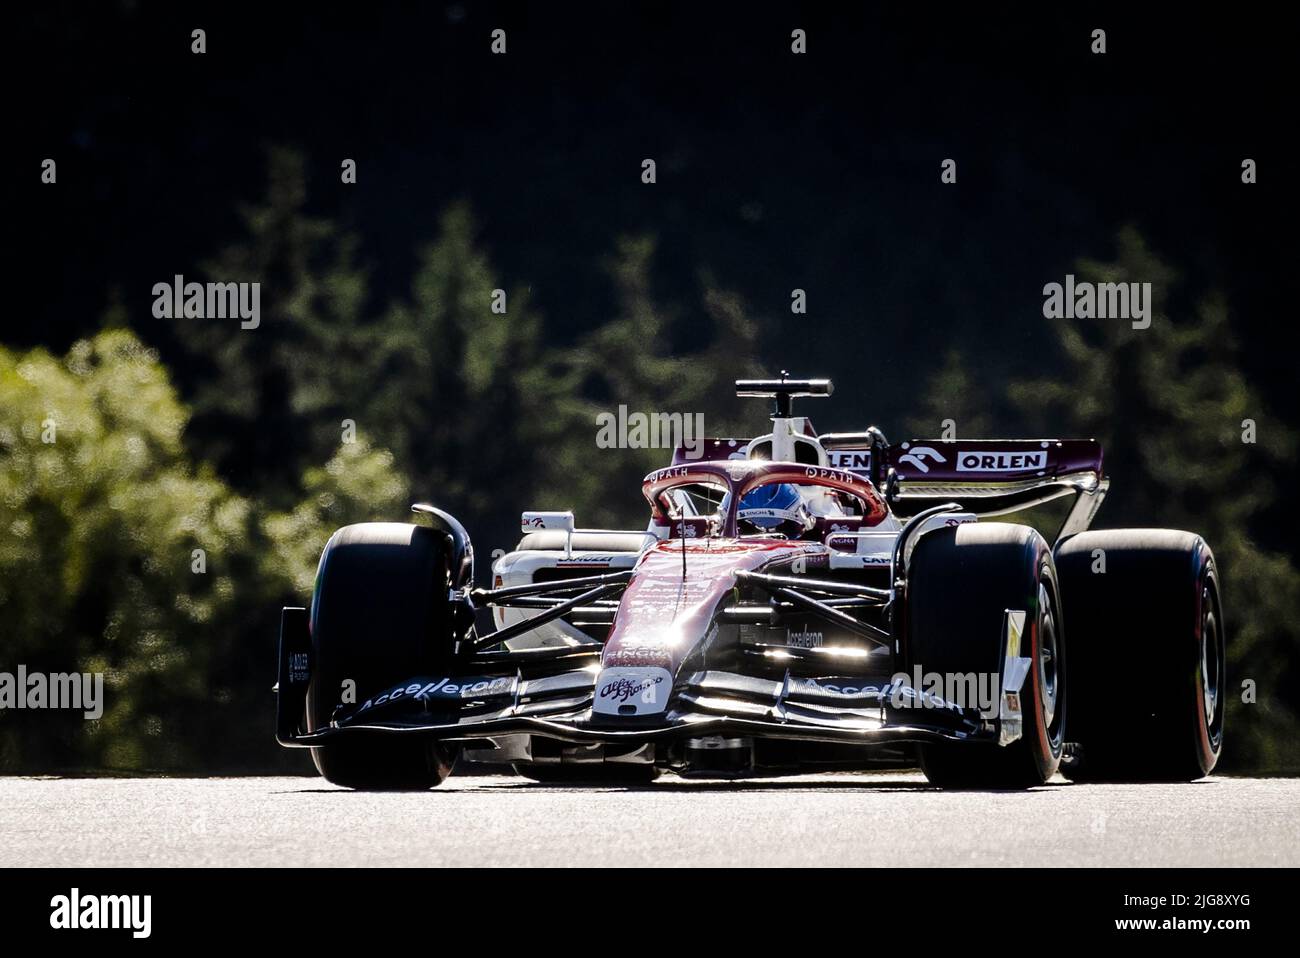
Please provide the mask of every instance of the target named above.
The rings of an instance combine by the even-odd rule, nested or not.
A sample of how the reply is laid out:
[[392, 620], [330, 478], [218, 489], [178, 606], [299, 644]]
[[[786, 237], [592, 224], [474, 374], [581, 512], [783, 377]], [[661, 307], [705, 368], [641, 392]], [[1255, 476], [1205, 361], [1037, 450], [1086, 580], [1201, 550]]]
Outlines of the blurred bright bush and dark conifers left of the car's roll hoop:
[[560, 348], [526, 290], [490, 311], [465, 204], [410, 294], [374, 304], [348, 237], [304, 203], [300, 159], [273, 152], [246, 237], [207, 265], [263, 283], [261, 324], [177, 321], [187, 402], [121, 313], [62, 357], [0, 347], [0, 668], [103, 671], [107, 698], [100, 721], [0, 712], [0, 768], [300, 768], [270, 736], [278, 614], [308, 599], [335, 528], [433, 500], [474, 529], [486, 575], [529, 504], [641, 525], [637, 497], [607, 491], [664, 454], [598, 455], [595, 413], [711, 408], [719, 377], [758, 369], [754, 324], [707, 277], [692, 308], [654, 302], [647, 239], [611, 259], [620, 315]]

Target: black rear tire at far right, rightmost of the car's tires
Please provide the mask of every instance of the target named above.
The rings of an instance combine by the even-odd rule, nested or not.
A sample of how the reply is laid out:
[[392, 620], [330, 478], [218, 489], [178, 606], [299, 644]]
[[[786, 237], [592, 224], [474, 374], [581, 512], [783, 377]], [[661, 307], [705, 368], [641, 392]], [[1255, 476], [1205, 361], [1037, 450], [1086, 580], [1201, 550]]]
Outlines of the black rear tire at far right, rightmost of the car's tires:
[[1076, 781], [1209, 775], [1223, 747], [1227, 689], [1209, 546], [1173, 529], [1084, 532], [1057, 549], [1057, 567], [1070, 603], [1070, 741], [1079, 745], [1065, 775]]

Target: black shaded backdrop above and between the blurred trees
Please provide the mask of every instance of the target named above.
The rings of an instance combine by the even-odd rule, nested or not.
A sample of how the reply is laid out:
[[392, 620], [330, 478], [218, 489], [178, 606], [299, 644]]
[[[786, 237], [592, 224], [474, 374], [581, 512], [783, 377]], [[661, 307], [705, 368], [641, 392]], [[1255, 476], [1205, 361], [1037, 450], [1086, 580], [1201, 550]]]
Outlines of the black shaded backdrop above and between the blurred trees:
[[[715, 396], [734, 419], [734, 404], [724, 406], [729, 378], [788, 368], [833, 377], [835, 398], [809, 409], [823, 429], [870, 421], [898, 438], [928, 422], [937, 430], [953, 398], [935, 377], [952, 361], [963, 383], [953, 402], [1005, 434], [1030, 424], [1004, 395], [1008, 383], [1071, 385], [1078, 372], [1043, 318], [1043, 285], [1078, 272], [1079, 257], [1115, 257], [1130, 227], [1178, 277], [1171, 316], [1193, 313], [1212, 294], [1227, 303], [1226, 338], [1206, 341], [1191, 361], [1221, 361], [1230, 347], [1254, 415], [1284, 438], [1277, 455], [1243, 461], [1232, 484], [1202, 495], [1232, 497], [1254, 482], [1294, 487], [1297, 14], [1266, 4], [1048, 6], [25, 9], [13, 14], [4, 68], [5, 126], [16, 135], [4, 151], [13, 272], [0, 342], [62, 354], [125, 324], [159, 350], [192, 407], [186, 443], [195, 460], [252, 502], [292, 502], [306, 487], [295, 477], [318, 450], [273, 412], [259, 425], [209, 409], [205, 394], [222, 389], [212, 355], [183, 324], [151, 315], [155, 282], [203, 278], [204, 264], [248, 235], [240, 211], [263, 201], [268, 157], [289, 148], [303, 172], [302, 216], [356, 240], [367, 276], [359, 328], [410, 294], [439, 217], [463, 203], [474, 248], [503, 286], [526, 291], [540, 342], [569, 351], [563, 382], [595, 408], [624, 398], [612, 374], [582, 372], [590, 337], [628, 312], [611, 282], [611, 251], [644, 237], [654, 242], [645, 298], [672, 304], [664, 312], [675, 317], [655, 330], [667, 357], [692, 355], [711, 329], [697, 302], [710, 290], [733, 295], [753, 322], [753, 351], [737, 355], [734, 369], [715, 356], [711, 390], [701, 394], [708, 404], [692, 411], [708, 413]], [[190, 52], [194, 27], [207, 31], [203, 56]], [[506, 56], [489, 49], [497, 27], [507, 31]], [[807, 31], [805, 56], [790, 53], [794, 27]], [[1095, 27], [1106, 30], [1101, 56], [1089, 52]], [[56, 186], [39, 181], [47, 156], [58, 161]], [[339, 182], [343, 157], [358, 161], [355, 186]], [[650, 186], [644, 157], [658, 164]], [[945, 157], [958, 162], [956, 186], [940, 183]], [[1244, 157], [1258, 162], [1256, 185], [1242, 183]], [[789, 312], [796, 287], [807, 291], [807, 316]], [[268, 277], [264, 309], [274, 295]], [[460, 415], [458, 395], [454, 386], [439, 393], [443, 416]], [[1134, 430], [1170, 429], [1132, 415]], [[420, 463], [445, 458], [443, 447], [404, 429], [385, 445], [410, 446], [396, 465], [429, 494], [420, 477], [434, 473]], [[260, 432], [237, 442], [240, 430]], [[278, 450], [292, 461], [272, 461]], [[627, 469], [633, 482], [640, 467]], [[1124, 455], [1112, 472], [1113, 500], [1145, 476]], [[489, 529], [490, 546], [508, 547], [510, 516], [534, 504], [523, 499], [530, 493], [520, 480], [491, 511], [468, 493], [443, 500], [468, 511], [476, 536]], [[636, 515], [634, 486], [616, 495]], [[1277, 599], [1284, 617], [1295, 595], [1294, 507], [1265, 497], [1248, 519], [1248, 542], [1292, 573]], [[94, 647], [94, 614], [78, 615]], [[51, 642], [62, 634], [43, 628]], [[265, 656], [269, 667], [265, 633], [247, 628], [231, 655]], [[1269, 662], [1277, 721], [1291, 721], [1295, 632], [1260, 641], [1287, 650]], [[251, 688], [252, 675], [230, 682]], [[263, 721], [269, 737], [269, 702], [257, 701], [263, 711], [246, 721]], [[164, 725], [176, 707], [155, 710]], [[68, 736], [60, 741], [61, 759], [31, 747], [10, 759], [103, 760], [103, 750], [78, 758]], [[143, 755], [138, 766], [202, 767], [202, 753], [131, 754]], [[1252, 755], [1258, 767], [1284, 764], [1277, 750]], [[248, 764], [281, 760], [266, 750]]]

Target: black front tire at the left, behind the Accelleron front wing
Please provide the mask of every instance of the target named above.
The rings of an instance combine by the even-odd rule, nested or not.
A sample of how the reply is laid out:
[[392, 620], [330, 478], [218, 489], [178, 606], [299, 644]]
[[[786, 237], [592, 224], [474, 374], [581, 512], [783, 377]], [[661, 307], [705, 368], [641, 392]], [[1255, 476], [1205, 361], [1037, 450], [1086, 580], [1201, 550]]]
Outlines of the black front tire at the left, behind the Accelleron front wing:
[[[364, 702], [437, 671], [450, 653], [448, 551], [445, 536], [406, 523], [347, 525], [330, 537], [312, 597], [309, 732], [329, 725], [346, 680]], [[328, 781], [354, 789], [428, 789], [454, 759], [438, 742], [385, 732], [352, 732], [312, 749]]]

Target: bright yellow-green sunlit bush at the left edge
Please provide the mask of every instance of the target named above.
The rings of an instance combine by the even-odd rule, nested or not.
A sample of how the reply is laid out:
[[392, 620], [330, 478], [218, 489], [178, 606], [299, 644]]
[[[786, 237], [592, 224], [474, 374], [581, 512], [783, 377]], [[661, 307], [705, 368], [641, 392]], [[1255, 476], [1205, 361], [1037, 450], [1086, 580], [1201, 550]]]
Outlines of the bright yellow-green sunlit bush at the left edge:
[[264, 512], [191, 463], [166, 370], [122, 329], [64, 357], [0, 348], [0, 408], [4, 668], [105, 675], [98, 721], [0, 712], [0, 764], [259, 764], [274, 606], [311, 588], [339, 523], [404, 504], [393, 456], [343, 446], [291, 512]]

